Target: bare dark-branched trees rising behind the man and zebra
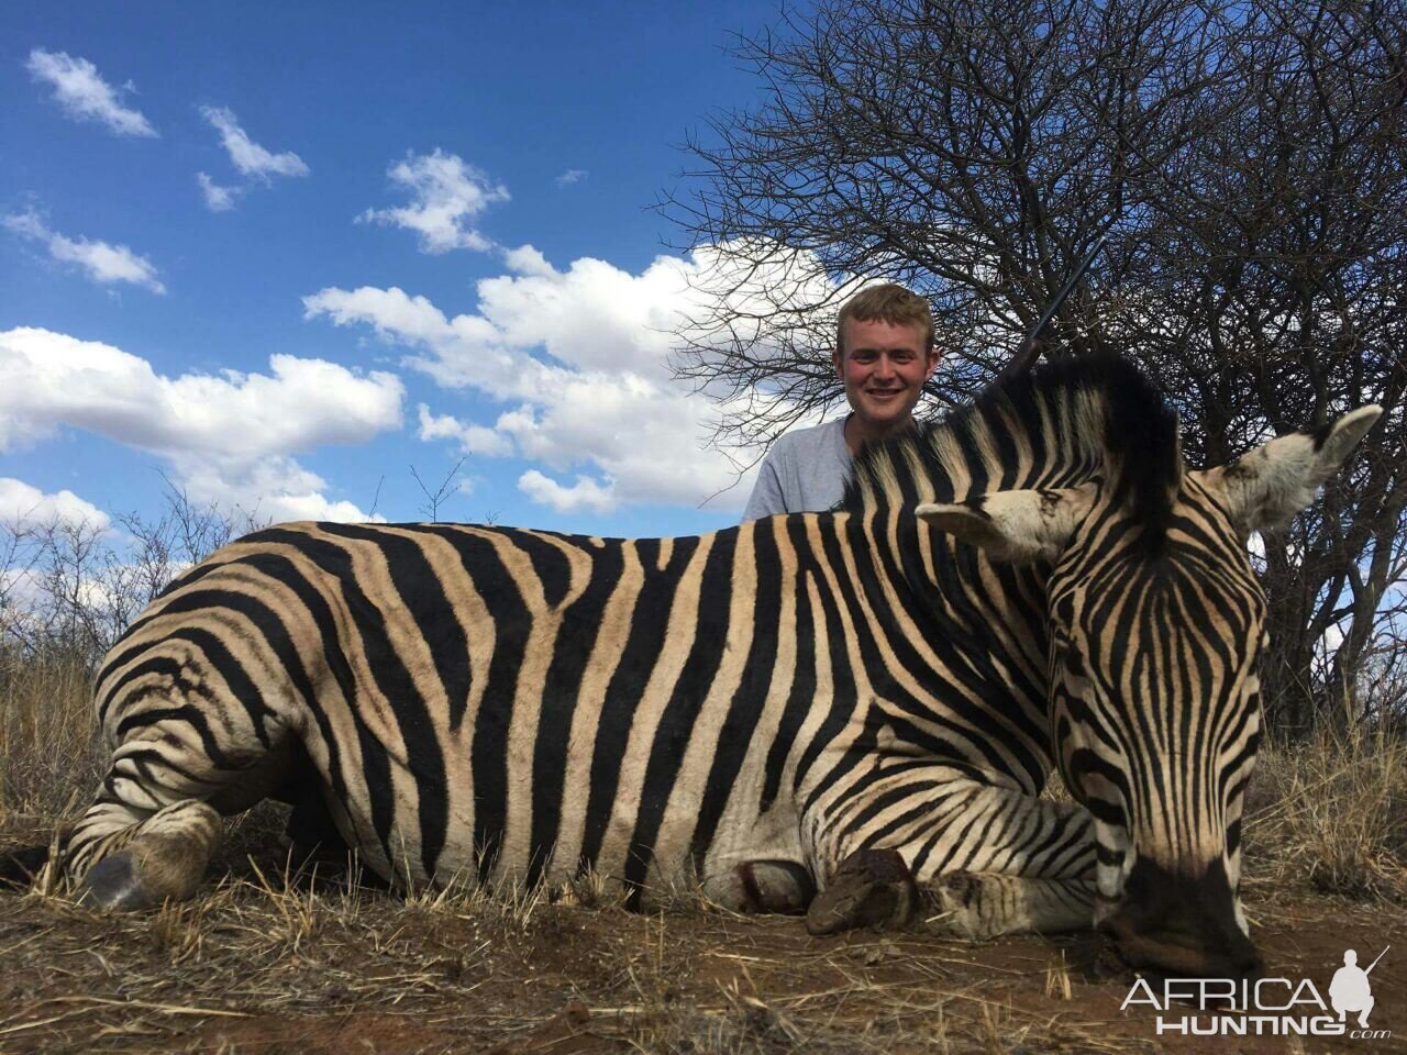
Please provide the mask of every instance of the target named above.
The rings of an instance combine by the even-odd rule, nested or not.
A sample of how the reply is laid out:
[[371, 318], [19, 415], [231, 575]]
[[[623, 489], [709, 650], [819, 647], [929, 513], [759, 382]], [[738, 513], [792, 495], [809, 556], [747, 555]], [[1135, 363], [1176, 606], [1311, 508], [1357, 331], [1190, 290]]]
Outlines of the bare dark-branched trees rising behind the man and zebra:
[[1365, 709], [1407, 560], [1407, 11], [830, 0], [737, 53], [764, 101], [718, 115], [663, 203], [723, 259], [678, 357], [720, 398], [719, 439], [840, 398], [834, 308], [864, 280], [929, 297], [930, 397], [964, 399], [1107, 234], [1052, 336], [1150, 369], [1193, 464], [1386, 408], [1262, 571], [1272, 724]]

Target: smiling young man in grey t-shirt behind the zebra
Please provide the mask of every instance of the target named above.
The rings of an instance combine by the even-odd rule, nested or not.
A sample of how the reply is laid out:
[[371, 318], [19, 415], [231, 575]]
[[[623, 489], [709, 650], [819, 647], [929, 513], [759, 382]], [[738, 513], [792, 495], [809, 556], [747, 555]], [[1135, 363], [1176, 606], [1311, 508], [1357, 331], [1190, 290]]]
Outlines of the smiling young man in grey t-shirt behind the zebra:
[[850, 415], [789, 432], [763, 461], [744, 520], [830, 509], [850, 460], [865, 443], [913, 425], [913, 408], [938, 364], [929, 302], [902, 286], [874, 286], [846, 301], [832, 352]]

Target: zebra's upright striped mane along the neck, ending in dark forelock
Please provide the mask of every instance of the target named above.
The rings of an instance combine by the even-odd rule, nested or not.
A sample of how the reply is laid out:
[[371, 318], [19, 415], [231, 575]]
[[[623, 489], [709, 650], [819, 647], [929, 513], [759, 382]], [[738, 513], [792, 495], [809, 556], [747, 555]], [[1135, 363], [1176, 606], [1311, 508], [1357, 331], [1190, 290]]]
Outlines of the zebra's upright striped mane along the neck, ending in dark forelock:
[[1157, 547], [1182, 480], [1178, 418], [1135, 366], [1110, 353], [1043, 364], [867, 447], [837, 509], [961, 502], [1093, 477], [1113, 484]]

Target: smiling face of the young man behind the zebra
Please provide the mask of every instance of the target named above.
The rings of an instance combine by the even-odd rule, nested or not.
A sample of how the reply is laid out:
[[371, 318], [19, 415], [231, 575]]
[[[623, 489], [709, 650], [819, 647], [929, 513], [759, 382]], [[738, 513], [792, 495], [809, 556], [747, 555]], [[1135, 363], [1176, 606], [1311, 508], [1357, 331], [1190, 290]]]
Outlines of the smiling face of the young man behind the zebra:
[[832, 362], [855, 416], [881, 430], [908, 421], [938, 364], [938, 353], [924, 350], [923, 326], [846, 319], [844, 335], [844, 352]]

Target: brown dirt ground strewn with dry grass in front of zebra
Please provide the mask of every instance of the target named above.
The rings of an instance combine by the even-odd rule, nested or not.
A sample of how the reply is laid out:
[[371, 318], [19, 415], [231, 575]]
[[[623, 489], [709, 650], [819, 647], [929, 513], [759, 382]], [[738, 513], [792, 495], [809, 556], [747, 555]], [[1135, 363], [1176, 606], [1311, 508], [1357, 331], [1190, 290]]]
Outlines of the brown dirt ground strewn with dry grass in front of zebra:
[[1272, 975], [1325, 995], [1345, 948], [1366, 965], [1390, 944], [1372, 975], [1390, 1038], [1159, 1038], [1147, 1009], [1119, 1010], [1133, 976], [1093, 934], [810, 938], [699, 906], [404, 900], [227, 864], [145, 916], [0, 895], [0, 1052], [1407, 1051], [1400, 904], [1247, 899]]

